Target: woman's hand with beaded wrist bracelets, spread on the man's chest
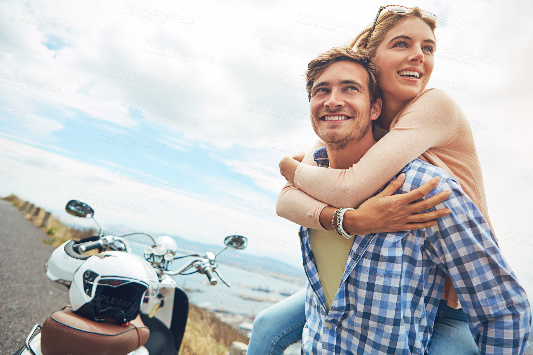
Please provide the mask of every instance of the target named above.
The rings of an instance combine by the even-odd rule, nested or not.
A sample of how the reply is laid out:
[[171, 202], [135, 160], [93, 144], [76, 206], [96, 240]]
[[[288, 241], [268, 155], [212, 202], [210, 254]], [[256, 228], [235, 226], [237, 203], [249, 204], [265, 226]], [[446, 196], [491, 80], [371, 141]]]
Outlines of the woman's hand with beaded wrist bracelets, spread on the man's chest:
[[[423, 201], [413, 202], [426, 196], [437, 184], [439, 177], [435, 177], [405, 194], [393, 195], [403, 184], [405, 175], [401, 174], [385, 187], [382, 192], [363, 202], [355, 211], [346, 211], [343, 228], [351, 234], [365, 235], [380, 232], [400, 232], [431, 227], [437, 224], [436, 218], [451, 213], [449, 209], [417, 213], [432, 208], [446, 200], [451, 191], [443, 191]], [[320, 221], [326, 229], [332, 229], [334, 207], [327, 207], [320, 213]], [[329, 218], [329, 226], [326, 220]]]

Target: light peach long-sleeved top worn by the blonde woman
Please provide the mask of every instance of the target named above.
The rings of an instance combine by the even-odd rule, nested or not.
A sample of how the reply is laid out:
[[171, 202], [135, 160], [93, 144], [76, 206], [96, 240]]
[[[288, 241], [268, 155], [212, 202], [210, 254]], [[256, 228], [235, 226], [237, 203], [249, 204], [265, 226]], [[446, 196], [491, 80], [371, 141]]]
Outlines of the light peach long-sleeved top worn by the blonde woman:
[[[306, 164], [296, 169], [295, 183], [281, 190], [276, 205], [279, 216], [323, 230], [319, 216], [326, 205], [357, 208], [408, 162], [420, 158], [454, 177], [490, 225], [472, 130], [446, 92], [428, 89], [409, 101], [392, 121], [389, 133], [349, 169], [317, 167], [312, 153], [320, 146], [324, 144], [317, 142], [306, 154], [302, 161]], [[442, 299], [450, 307], [461, 308], [449, 277]]]

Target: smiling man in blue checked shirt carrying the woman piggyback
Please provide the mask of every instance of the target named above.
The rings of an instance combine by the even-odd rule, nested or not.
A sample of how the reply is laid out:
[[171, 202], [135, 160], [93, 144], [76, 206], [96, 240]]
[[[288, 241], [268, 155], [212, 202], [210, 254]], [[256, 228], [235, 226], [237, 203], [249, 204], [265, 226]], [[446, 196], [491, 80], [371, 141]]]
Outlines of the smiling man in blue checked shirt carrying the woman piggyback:
[[[319, 55], [309, 70], [318, 71], [310, 90], [311, 123], [326, 144], [314, 159], [322, 167], [351, 167], [375, 143], [372, 120], [381, 112], [377, 68], [341, 47]], [[451, 213], [425, 229], [350, 239], [302, 227], [309, 278], [303, 353], [425, 353], [446, 275], [480, 353], [523, 353], [529, 303], [481, 212], [437, 167], [416, 159], [400, 173], [405, 181], [398, 193], [439, 177], [430, 195], [450, 190], [436, 208]], [[342, 227], [342, 221], [333, 222]]]

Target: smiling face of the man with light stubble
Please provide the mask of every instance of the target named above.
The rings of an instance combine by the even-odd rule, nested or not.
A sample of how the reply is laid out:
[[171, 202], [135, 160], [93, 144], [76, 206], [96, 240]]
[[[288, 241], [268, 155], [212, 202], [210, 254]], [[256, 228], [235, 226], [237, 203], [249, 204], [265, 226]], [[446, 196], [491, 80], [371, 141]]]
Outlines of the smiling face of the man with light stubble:
[[314, 80], [310, 104], [314, 133], [333, 150], [364, 137], [379, 116], [369, 102], [366, 69], [350, 61], [334, 62]]

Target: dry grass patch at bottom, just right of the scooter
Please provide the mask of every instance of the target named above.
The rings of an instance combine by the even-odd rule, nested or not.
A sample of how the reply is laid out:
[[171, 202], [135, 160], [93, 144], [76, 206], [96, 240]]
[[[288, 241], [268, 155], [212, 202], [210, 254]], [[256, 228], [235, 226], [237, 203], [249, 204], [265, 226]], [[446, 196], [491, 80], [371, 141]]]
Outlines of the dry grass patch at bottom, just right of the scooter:
[[213, 313], [190, 305], [179, 355], [226, 355], [234, 341], [248, 344], [249, 339]]

